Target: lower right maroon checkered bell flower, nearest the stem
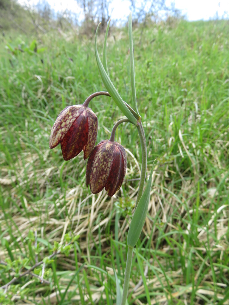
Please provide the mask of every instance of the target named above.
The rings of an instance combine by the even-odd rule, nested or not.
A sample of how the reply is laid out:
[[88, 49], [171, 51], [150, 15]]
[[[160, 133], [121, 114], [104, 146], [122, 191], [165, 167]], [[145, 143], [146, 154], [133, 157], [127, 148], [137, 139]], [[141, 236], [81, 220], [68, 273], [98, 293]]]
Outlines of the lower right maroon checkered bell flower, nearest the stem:
[[86, 185], [97, 194], [105, 190], [113, 196], [122, 185], [126, 171], [126, 153], [122, 145], [101, 141], [91, 152], [86, 168]]

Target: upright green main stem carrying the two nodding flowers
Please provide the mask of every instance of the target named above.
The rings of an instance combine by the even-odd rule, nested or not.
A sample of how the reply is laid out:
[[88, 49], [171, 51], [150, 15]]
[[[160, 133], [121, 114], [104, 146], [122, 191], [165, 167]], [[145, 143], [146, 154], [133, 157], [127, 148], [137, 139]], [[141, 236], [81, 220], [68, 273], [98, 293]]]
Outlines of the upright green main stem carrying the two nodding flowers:
[[[141, 176], [140, 176], [140, 183], [139, 183], [138, 194], [137, 194], [137, 199], [136, 199], [136, 205], [135, 205], [134, 210], [136, 209], [136, 206], [138, 205], [138, 202], [143, 194], [144, 182], [145, 182], [145, 178], [146, 178], [146, 166], [147, 166], [146, 138], [145, 138], [145, 133], [144, 133], [144, 129], [143, 129], [141, 120], [140, 120], [139, 124], [137, 124], [137, 129], [138, 129], [138, 134], [139, 134], [140, 143], [141, 143], [142, 167], [141, 167]], [[125, 305], [127, 295], [128, 295], [132, 255], [133, 255], [133, 248], [128, 247], [121, 305]]]

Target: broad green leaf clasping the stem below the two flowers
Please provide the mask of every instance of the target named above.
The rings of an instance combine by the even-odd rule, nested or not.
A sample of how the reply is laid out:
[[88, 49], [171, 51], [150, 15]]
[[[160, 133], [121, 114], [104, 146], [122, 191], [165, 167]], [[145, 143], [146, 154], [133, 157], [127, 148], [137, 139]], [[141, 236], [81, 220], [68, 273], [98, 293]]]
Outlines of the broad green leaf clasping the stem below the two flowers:
[[144, 226], [146, 220], [146, 214], [148, 210], [148, 205], [150, 201], [150, 189], [151, 189], [151, 182], [152, 182], [152, 175], [153, 175], [153, 168], [150, 172], [150, 177], [148, 183], [146, 185], [145, 191], [142, 194], [139, 203], [136, 207], [136, 210], [133, 214], [133, 218], [131, 220], [129, 231], [127, 234], [127, 245], [129, 247], [134, 247], [136, 242], [138, 241], [142, 228]]

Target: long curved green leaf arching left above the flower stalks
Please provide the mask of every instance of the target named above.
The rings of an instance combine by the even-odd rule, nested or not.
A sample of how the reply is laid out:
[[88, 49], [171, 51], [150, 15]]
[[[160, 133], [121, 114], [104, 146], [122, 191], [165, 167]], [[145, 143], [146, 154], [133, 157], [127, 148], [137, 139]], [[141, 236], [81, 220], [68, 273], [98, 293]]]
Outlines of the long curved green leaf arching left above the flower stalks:
[[95, 37], [95, 56], [96, 56], [96, 62], [97, 62], [97, 66], [100, 72], [100, 76], [102, 78], [102, 81], [105, 85], [105, 87], [107, 88], [107, 91], [109, 92], [109, 94], [111, 95], [111, 98], [114, 100], [114, 102], [116, 103], [116, 105], [120, 108], [120, 110], [122, 111], [122, 113], [133, 123], [133, 124], [137, 124], [138, 121], [136, 120], [136, 118], [133, 116], [133, 114], [129, 111], [129, 109], [127, 108], [127, 106], [125, 105], [124, 101], [122, 100], [121, 96], [118, 94], [118, 91], [115, 89], [115, 86], [112, 84], [109, 76], [107, 75], [104, 66], [100, 60], [99, 57], [99, 53], [97, 50], [97, 33], [98, 33], [98, 29], [99, 29], [100, 23], [97, 27], [96, 30], [96, 37]]

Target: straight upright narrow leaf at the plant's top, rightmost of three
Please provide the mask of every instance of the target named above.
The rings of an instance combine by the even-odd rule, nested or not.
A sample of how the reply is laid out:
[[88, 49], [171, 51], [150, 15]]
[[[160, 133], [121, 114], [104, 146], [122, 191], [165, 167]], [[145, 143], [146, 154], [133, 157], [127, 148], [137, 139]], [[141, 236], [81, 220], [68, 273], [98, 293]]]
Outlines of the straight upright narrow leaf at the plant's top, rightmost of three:
[[130, 82], [131, 82], [132, 99], [133, 99], [135, 111], [136, 111], [137, 115], [140, 117], [140, 114], [138, 112], [137, 99], [136, 99], [136, 89], [135, 89], [134, 59], [133, 59], [133, 35], [132, 35], [132, 15], [131, 15], [131, 12], [129, 14], [129, 21], [128, 21], [128, 34], [129, 34]]

